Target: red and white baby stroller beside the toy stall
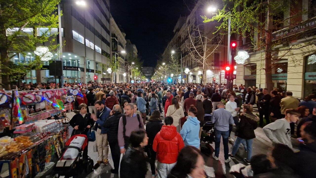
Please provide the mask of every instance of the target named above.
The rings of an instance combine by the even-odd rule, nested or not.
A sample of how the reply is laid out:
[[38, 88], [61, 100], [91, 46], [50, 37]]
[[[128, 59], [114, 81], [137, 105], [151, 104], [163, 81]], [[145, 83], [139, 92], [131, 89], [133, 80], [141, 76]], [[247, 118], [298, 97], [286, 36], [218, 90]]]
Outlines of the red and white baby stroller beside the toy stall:
[[62, 157], [58, 160], [54, 172], [65, 178], [78, 177], [84, 170], [90, 173], [93, 160], [88, 157], [88, 138], [84, 134], [70, 137], [62, 150]]

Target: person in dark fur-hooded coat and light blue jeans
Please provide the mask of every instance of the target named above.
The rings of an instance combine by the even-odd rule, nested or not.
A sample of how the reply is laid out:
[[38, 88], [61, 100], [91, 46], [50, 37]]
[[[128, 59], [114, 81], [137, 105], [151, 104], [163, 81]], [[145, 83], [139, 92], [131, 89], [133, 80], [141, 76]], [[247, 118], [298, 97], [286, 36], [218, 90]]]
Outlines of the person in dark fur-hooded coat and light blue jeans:
[[229, 157], [234, 158], [239, 148], [239, 145], [246, 140], [247, 144], [247, 158], [244, 158], [244, 161], [250, 164], [251, 154], [252, 154], [252, 140], [256, 138], [254, 130], [258, 126], [259, 118], [252, 114], [253, 107], [252, 105], [245, 104], [243, 107], [243, 113], [240, 114], [240, 122], [236, 131], [236, 141], [233, 146], [232, 153]]

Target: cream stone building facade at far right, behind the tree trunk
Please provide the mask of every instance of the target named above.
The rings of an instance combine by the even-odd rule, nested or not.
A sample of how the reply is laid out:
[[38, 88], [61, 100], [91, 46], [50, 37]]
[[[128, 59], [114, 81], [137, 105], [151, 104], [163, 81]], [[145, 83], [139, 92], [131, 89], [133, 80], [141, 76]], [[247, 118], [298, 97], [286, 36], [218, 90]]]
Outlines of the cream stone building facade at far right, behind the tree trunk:
[[[293, 92], [293, 96], [299, 99], [316, 93], [316, 37], [315, 1], [298, 1], [296, 9], [291, 9], [281, 15], [286, 19], [297, 12], [299, 14], [295, 21], [289, 20], [290, 25], [272, 34], [273, 41], [288, 40], [289, 43], [274, 48], [274, 57], [279, 58], [272, 67], [272, 81], [278, 92], [287, 90]], [[260, 36], [254, 36], [260, 39]], [[248, 52], [249, 58], [244, 64], [237, 65], [236, 82], [248, 86], [265, 88], [265, 53], [264, 51], [253, 51], [251, 41], [247, 38], [240, 39], [239, 50]]]

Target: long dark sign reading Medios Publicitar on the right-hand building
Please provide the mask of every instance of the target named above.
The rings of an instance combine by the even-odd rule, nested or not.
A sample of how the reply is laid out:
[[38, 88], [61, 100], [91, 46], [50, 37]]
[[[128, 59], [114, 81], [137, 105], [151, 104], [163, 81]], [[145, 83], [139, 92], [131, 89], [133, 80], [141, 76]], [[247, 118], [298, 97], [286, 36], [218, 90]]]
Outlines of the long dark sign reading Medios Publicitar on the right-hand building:
[[305, 23], [301, 23], [300, 25], [297, 25], [295, 27], [289, 28], [287, 30], [283, 30], [281, 32], [272, 34], [272, 40], [276, 40], [279, 38], [283, 38], [286, 36], [290, 36], [293, 34], [297, 34], [312, 28], [316, 27], [316, 19], [313, 19], [311, 21], [305, 22]]

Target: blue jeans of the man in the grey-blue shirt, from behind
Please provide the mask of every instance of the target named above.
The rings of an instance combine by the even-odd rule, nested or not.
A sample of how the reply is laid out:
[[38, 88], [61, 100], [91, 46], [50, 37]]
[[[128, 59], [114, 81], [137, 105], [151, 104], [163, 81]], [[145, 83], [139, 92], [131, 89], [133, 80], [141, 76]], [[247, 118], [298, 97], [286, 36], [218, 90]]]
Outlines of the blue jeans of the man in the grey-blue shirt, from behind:
[[219, 131], [215, 129], [215, 156], [219, 156], [219, 147], [221, 143], [221, 137], [223, 137], [223, 145], [224, 145], [224, 157], [228, 159], [228, 137], [229, 131]]

